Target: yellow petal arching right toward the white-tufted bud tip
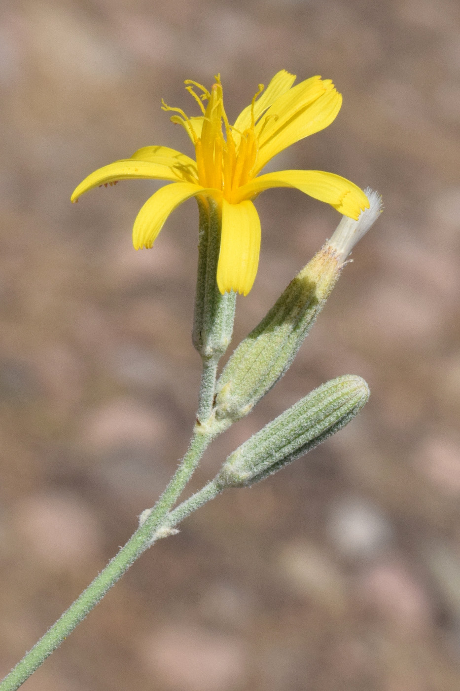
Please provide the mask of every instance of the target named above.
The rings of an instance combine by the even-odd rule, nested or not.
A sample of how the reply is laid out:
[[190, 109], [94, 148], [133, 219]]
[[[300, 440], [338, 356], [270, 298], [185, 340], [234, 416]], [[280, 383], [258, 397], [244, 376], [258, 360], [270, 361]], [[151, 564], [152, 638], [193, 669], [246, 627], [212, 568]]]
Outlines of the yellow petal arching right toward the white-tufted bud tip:
[[344, 216], [357, 220], [361, 210], [369, 209], [365, 193], [346, 178], [323, 171], [278, 171], [267, 173], [238, 189], [236, 200], [253, 198], [269, 187], [296, 187], [301, 192], [330, 204]]

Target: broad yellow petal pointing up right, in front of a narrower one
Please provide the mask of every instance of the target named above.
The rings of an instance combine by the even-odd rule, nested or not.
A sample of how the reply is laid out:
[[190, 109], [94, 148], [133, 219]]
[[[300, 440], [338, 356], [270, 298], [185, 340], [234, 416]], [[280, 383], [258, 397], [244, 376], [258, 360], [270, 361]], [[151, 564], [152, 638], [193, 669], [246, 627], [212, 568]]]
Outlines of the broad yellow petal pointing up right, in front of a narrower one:
[[260, 171], [287, 146], [325, 129], [335, 120], [341, 105], [342, 96], [330, 79], [312, 77], [291, 88], [276, 100], [256, 128], [259, 152], [253, 172]]

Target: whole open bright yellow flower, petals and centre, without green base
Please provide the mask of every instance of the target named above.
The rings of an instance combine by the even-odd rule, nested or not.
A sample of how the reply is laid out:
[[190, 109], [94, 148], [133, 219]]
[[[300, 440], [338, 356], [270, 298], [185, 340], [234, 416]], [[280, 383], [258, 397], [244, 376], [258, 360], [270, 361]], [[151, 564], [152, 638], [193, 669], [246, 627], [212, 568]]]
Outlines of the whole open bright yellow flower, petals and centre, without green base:
[[[187, 79], [187, 91], [198, 102], [202, 115], [187, 117], [180, 108], [172, 122], [180, 123], [195, 146], [196, 162], [167, 146], [145, 146], [131, 158], [99, 168], [81, 182], [72, 195], [98, 185], [127, 178], [172, 180], [146, 201], [133, 227], [135, 249], [152, 247], [171, 211], [190, 197], [213, 198], [222, 214], [222, 234], [217, 281], [220, 292], [247, 295], [256, 278], [260, 251], [260, 220], [253, 199], [269, 187], [296, 187], [327, 202], [356, 220], [369, 207], [367, 197], [353, 182], [323, 171], [279, 171], [258, 176], [261, 169], [287, 146], [327, 127], [341, 108], [342, 97], [330, 79], [311, 77], [294, 84], [296, 77], [278, 72], [233, 126], [222, 100], [219, 75], [211, 93]], [[195, 88], [202, 93], [198, 95]], [[263, 93], [262, 93], [263, 92]], [[207, 102], [205, 108], [203, 102]], [[223, 125], [223, 127], [222, 127]]]

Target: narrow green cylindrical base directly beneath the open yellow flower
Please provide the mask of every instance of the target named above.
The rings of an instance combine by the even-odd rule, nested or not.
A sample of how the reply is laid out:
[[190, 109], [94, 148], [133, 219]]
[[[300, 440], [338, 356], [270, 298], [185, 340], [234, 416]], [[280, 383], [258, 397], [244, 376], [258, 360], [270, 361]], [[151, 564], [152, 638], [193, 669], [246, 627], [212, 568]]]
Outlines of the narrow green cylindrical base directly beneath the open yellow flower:
[[192, 341], [203, 358], [219, 359], [231, 341], [236, 293], [220, 294], [216, 281], [222, 224], [218, 205], [200, 199], [198, 207], [200, 238]]

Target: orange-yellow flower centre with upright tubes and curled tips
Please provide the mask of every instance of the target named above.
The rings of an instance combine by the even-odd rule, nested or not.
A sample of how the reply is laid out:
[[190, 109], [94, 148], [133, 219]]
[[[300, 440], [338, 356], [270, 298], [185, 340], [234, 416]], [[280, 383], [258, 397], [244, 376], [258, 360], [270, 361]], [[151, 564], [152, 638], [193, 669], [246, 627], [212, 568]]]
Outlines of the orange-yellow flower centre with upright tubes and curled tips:
[[[191, 79], [187, 79], [185, 84], [189, 85], [186, 90], [200, 105], [202, 117], [190, 118], [180, 108], [170, 108], [164, 102], [162, 107], [179, 113], [171, 117], [171, 122], [182, 124], [195, 144], [200, 184], [221, 191], [224, 198], [232, 202], [236, 189], [253, 178], [252, 171], [258, 153], [254, 104], [263, 85], [260, 84], [251, 103], [251, 125], [239, 132], [229, 124], [225, 113], [220, 75], [215, 77], [211, 92]], [[194, 87], [199, 88], [202, 93], [195, 93]], [[206, 108], [203, 101], [207, 101]], [[202, 122], [201, 131], [195, 126], [198, 121], [200, 124]]]

